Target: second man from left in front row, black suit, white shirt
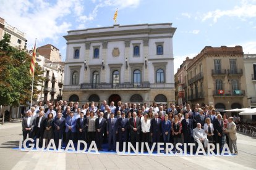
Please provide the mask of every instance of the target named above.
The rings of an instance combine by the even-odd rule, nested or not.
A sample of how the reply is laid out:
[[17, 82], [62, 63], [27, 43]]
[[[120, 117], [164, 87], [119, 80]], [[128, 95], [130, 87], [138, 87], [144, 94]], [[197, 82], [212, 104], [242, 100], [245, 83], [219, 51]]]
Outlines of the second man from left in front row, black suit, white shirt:
[[39, 116], [36, 117], [36, 124], [35, 124], [36, 139], [39, 139], [40, 147], [42, 146], [42, 142], [43, 142], [43, 132], [45, 132], [46, 117], [44, 115], [45, 115], [45, 112], [40, 111]]

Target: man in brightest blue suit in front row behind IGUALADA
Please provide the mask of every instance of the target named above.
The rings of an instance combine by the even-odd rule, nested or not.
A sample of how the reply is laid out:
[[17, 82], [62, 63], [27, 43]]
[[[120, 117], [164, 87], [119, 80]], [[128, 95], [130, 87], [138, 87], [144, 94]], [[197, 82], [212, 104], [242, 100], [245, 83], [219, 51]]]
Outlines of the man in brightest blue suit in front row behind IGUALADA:
[[70, 111], [69, 116], [66, 118], [66, 146], [69, 140], [75, 140], [75, 133], [77, 132], [76, 125], [77, 119], [74, 117], [74, 112]]

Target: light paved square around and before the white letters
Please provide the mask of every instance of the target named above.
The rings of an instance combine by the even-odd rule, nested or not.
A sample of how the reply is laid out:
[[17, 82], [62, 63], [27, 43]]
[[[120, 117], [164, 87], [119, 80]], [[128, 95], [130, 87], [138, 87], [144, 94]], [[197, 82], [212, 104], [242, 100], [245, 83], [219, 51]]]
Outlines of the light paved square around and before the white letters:
[[256, 139], [243, 134], [233, 157], [20, 152], [21, 137], [21, 123], [0, 125], [0, 169], [256, 169]]

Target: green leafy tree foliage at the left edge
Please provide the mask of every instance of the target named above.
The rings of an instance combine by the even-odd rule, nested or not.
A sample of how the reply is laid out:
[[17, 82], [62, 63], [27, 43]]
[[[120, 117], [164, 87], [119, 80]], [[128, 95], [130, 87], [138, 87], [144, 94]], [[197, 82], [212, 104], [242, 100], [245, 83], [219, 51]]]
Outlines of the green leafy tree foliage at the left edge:
[[[32, 76], [31, 55], [9, 46], [9, 35], [0, 41], [0, 105], [20, 105], [30, 101]], [[36, 86], [43, 82], [43, 69], [35, 66], [33, 98], [40, 93]]]

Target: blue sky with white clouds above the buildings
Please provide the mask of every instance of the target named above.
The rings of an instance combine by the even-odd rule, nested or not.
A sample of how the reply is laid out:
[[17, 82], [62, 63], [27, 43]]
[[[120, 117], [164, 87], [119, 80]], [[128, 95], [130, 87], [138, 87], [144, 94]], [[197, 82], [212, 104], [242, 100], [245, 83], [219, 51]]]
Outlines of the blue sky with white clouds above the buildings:
[[242, 46], [256, 54], [256, 0], [0, 0], [0, 17], [26, 33], [28, 49], [53, 44], [66, 58], [69, 30], [117, 23], [173, 23], [174, 73], [205, 46]]

